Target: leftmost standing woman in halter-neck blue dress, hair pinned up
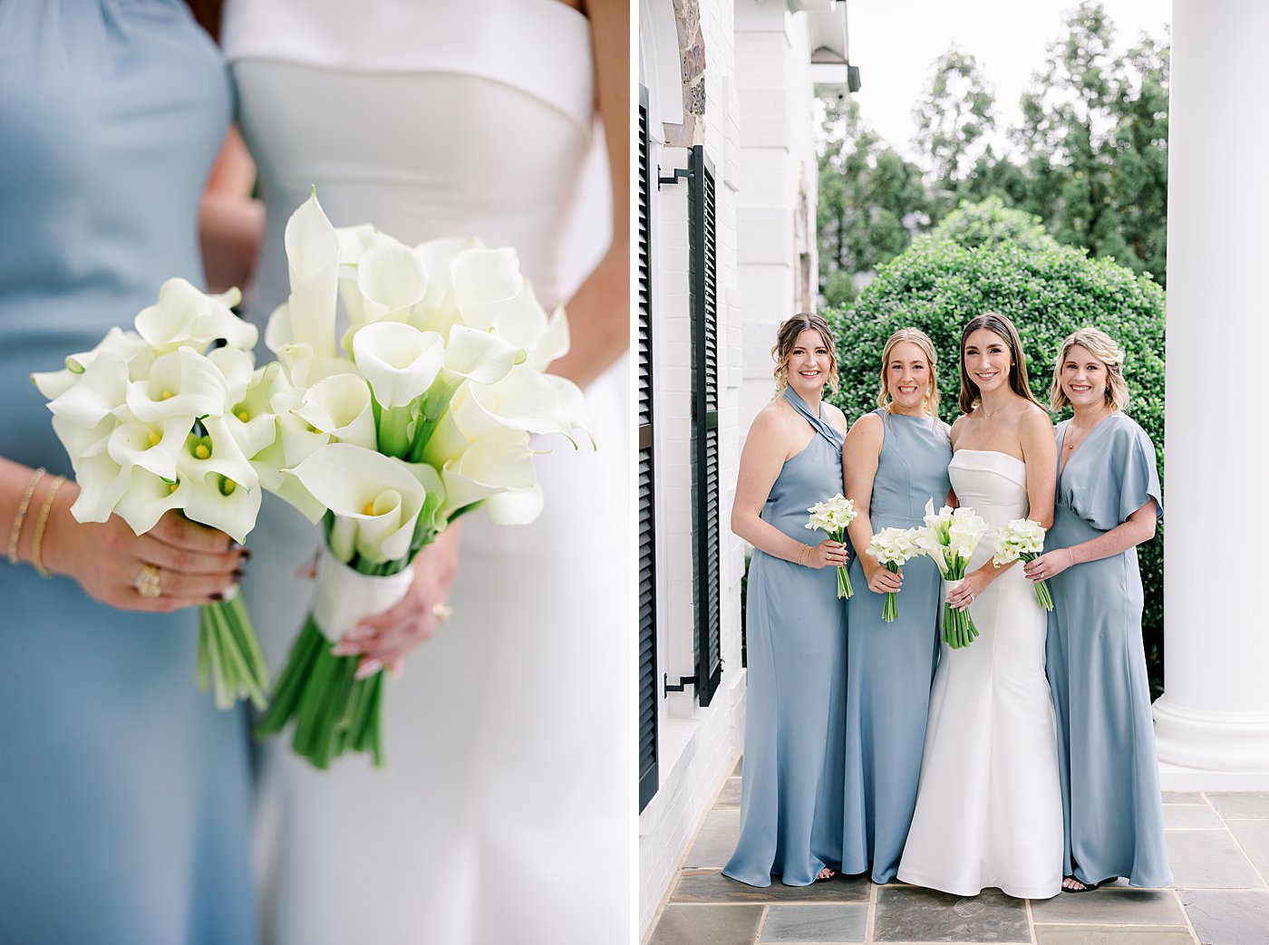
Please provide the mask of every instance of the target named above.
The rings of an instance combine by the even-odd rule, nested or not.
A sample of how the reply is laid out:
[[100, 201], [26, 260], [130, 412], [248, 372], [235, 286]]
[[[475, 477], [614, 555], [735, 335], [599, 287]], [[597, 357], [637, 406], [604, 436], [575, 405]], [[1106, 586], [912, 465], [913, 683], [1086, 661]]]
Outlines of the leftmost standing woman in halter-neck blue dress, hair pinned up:
[[827, 323], [799, 313], [772, 349], [778, 396], [754, 419], [740, 457], [731, 529], [754, 545], [749, 571], [749, 708], [740, 841], [723, 874], [766, 887], [832, 879], [840, 786], [845, 601], [834, 568], [845, 545], [803, 542], [807, 509], [841, 490], [846, 419], [822, 402], [838, 386]]

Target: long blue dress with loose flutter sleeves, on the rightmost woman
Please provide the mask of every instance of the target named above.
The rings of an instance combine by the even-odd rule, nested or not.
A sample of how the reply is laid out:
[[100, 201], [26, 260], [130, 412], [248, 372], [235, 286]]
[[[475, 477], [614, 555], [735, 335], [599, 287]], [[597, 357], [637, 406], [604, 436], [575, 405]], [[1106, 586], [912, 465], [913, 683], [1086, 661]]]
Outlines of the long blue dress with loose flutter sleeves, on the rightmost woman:
[[[1057, 425], [1058, 453], [1068, 422]], [[1098, 538], [1150, 499], [1162, 515], [1155, 446], [1134, 421], [1112, 414], [1058, 474], [1044, 551]], [[1084, 883], [1127, 877], [1131, 885], [1167, 885], [1137, 549], [1076, 564], [1048, 585], [1046, 665], [1057, 709], [1063, 873]]]

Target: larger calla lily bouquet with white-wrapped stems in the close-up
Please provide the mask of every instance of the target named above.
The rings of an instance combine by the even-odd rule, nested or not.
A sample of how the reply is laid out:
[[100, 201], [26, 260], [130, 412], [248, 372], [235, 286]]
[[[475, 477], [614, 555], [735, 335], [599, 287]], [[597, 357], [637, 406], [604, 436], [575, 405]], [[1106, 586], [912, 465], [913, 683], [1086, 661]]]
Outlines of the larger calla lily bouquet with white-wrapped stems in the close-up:
[[459, 515], [537, 518], [530, 435], [593, 440], [581, 391], [546, 373], [569, 350], [563, 310], [538, 304], [513, 250], [336, 230], [316, 192], [286, 249], [291, 296], [265, 330], [286, 384], [263, 481], [325, 523], [326, 545], [313, 610], [258, 731], [294, 719], [293, 748], [317, 767], [344, 751], [383, 766], [383, 671], [357, 679], [358, 657], [332, 646], [405, 596], [415, 556]]

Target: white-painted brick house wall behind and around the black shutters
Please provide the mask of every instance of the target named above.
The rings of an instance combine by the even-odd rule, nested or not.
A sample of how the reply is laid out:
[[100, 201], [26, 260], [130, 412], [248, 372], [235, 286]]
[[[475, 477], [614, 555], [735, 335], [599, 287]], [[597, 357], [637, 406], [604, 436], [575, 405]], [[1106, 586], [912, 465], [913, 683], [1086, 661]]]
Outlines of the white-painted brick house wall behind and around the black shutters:
[[[642, 19], [656, 22], [655, 28], [641, 24], [641, 30], [662, 38], [669, 34], [671, 0], [642, 0], [641, 10]], [[731, 534], [730, 519], [741, 444], [754, 412], [770, 400], [774, 329], [794, 311], [794, 213], [803, 173], [811, 184], [813, 226], [815, 143], [807, 117], [812, 91], [803, 20], [791, 15], [780, 0], [700, 0], [704, 147], [717, 185], [723, 674], [706, 709], [690, 688], [660, 703], [660, 788], [640, 817], [641, 934], [651, 927], [742, 741], [740, 580], [745, 543]], [[666, 43], [660, 41], [645, 46], [642, 37], [643, 32], [643, 81], [665, 89], [666, 71], [679, 71], [676, 51], [667, 55], [662, 48]], [[655, 114], [654, 119], [671, 121]], [[656, 121], [654, 136], [664, 142]], [[654, 145], [652, 157], [662, 176], [688, 162], [687, 150], [661, 145]], [[694, 634], [687, 186], [661, 188], [652, 213], [657, 655], [660, 672], [676, 681], [692, 674]]]

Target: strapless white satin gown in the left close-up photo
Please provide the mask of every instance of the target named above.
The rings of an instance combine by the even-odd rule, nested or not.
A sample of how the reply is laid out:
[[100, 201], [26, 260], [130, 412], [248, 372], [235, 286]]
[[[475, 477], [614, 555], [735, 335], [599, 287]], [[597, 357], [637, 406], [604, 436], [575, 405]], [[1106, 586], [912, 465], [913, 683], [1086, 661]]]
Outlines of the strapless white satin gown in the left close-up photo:
[[[336, 226], [513, 246], [547, 307], [607, 244], [589, 24], [555, 0], [235, 0], [223, 44], [268, 208], [256, 317], [287, 294], [282, 232], [316, 184]], [[602, 178], [598, 178], [600, 181]], [[584, 246], [584, 252], [576, 247]], [[626, 368], [586, 393], [596, 453], [539, 448], [529, 526], [470, 516], [453, 619], [392, 680], [391, 770], [261, 752], [277, 945], [623, 942], [631, 547]], [[251, 537], [251, 606], [280, 666], [317, 533], [280, 502]], [[615, 510], [615, 514], [614, 514]]]

